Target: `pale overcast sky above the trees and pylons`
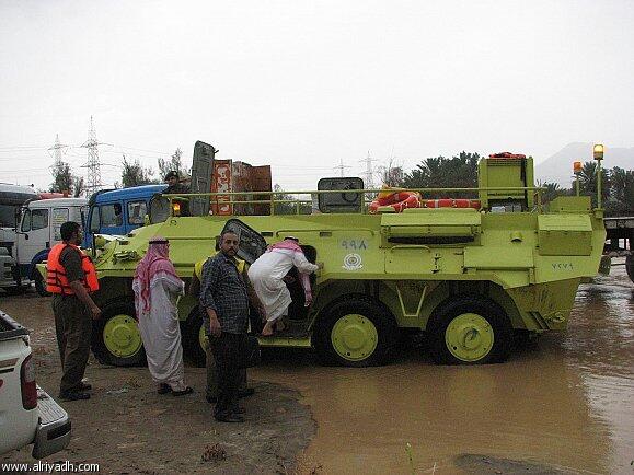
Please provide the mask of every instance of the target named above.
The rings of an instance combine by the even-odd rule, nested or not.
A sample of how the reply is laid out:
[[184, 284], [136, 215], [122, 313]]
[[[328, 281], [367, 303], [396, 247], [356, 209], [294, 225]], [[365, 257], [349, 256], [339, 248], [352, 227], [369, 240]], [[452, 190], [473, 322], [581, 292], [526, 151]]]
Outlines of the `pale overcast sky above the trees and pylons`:
[[[56, 134], [104, 184], [196, 140], [286, 189], [461, 150], [634, 146], [632, 1], [0, 0], [0, 181], [51, 182]], [[589, 159], [589, 157], [588, 157]]]

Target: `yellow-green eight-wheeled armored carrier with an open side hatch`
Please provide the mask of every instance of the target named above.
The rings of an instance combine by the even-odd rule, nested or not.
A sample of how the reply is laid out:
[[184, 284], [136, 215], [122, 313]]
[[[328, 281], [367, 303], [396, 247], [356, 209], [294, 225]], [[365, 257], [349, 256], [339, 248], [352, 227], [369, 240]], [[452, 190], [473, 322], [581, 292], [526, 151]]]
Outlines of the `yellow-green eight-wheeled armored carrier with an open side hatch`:
[[[207, 216], [178, 217], [170, 211], [175, 197], [162, 198], [151, 207], [153, 224], [97, 244], [101, 289], [94, 298], [103, 318], [95, 322], [94, 354], [119, 366], [145, 361], [131, 280], [154, 235], [170, 240], [170, 257], [184, 280], [197, 260], [214, 254], [226, 227], [240, 235], [240, 256], [247, 262], [267, 244], [299, 238], [309, 260], [324, 264], [312, 276], [313, 304], [304, 308], [303, 292], [289, 285], [288, 331], [261, 344], [312, 347], [323, 361], [353, 367], [385, 361], [404, 331], [424, 332], [438, 363], [503, 361], [518, 333], [565, 329], [579, 282], [598, 271], [602, 210], [578, 196], [556, 198], [545, 209], [532, 158], [482, 159], [477, 189], [406, 190], [420, 194], [415, 208], [385, 205], [377, 192], [364, 190], [359, 178], [324, 178], [316, 192], [285, 192], [299, 197], [295, 204], [276, 194], [223, 194], [242, 208], [266, 202], [268, 216], [208, 216], [207, 206]], [[426, 200], [431, 192], [477, 199]], [[218, 199], [192, 198], [199, 205], [208, 196]], [[277, 215], [280, 201], [296, 213]], [[185, 351], [201, 358], [195, 299], [180, 301], [180, 317]]]

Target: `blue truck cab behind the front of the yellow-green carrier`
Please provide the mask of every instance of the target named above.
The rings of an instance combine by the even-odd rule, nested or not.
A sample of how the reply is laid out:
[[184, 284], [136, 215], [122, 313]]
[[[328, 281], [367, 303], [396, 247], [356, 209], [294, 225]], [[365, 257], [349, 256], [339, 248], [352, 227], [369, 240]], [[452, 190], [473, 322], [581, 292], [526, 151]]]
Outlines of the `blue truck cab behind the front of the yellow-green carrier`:
[[122, 189], [105, 189], [95, 193], [89, 201], [88, 230], [82, 247], [92, 247], [94, 234], [126, 235], [143, 225], [150, 199], [168, 187], [142, 185]]

